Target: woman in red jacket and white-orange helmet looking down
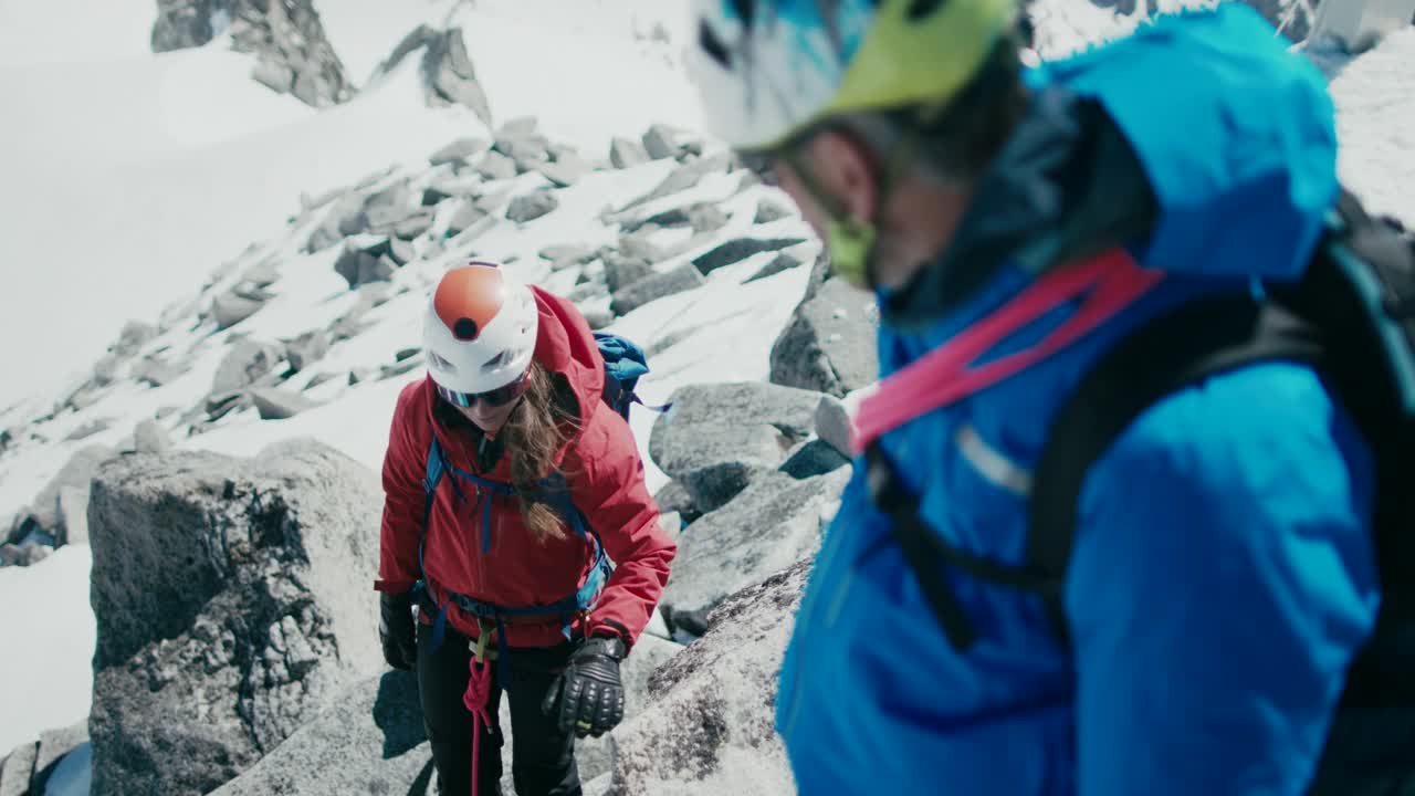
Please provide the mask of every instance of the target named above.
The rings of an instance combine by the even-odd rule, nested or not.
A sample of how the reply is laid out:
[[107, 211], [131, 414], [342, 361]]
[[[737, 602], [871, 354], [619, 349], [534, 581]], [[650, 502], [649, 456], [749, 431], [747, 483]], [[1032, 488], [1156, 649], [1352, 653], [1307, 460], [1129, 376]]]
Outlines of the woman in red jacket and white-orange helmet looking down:
[[675, 544], [570, 302], [494, 265], [449, 271], [424, 353], [383, 460], [383, 657], [417, 671], [443, 793], [499, 792], [504, 691], [516, 793], [577, 795], [574, 737], [623, 718], [618, 666]]

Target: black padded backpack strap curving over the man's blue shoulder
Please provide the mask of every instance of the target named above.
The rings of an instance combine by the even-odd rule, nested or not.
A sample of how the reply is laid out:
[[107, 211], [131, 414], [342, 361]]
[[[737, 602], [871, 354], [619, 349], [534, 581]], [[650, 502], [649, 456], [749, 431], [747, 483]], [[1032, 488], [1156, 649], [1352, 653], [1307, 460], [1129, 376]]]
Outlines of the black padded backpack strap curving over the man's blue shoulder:
[[1081, 378], [1047, 433], [1032, 482], [1027, 567], [1068, 643], [1063, 588], [1087, 472], [1149, 406], [1207, 377], [1257, 361], [1319, 364], [1315, 327], [1248, 296], [1191, 302], [1132, 331]]

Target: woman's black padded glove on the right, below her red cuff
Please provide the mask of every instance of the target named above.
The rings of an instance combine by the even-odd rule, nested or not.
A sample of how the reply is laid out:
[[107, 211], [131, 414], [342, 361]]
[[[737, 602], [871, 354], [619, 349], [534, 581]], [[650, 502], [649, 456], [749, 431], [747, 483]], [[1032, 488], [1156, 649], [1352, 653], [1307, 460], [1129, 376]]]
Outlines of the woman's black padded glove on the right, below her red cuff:
[[556, 718], [560, 732], [573, 731], [576, 738], [599, 738], [614, 729], [624, 718], [624, 686], [620, 683], [618, 663], [625, 654], [628, 647], [618, 637], [586, 639], [570, 654], [565, 671], [550, 684], [541, 711]]

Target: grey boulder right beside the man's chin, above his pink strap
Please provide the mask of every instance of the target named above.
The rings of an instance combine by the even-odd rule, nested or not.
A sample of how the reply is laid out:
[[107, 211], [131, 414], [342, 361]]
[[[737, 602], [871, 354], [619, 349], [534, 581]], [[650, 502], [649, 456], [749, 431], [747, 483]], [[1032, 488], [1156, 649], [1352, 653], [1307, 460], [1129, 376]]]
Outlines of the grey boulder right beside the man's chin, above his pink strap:
[[843, 279], [825, 282], [771, 346], [771, 381], [843, 397], [879, 380], [873, 305]]

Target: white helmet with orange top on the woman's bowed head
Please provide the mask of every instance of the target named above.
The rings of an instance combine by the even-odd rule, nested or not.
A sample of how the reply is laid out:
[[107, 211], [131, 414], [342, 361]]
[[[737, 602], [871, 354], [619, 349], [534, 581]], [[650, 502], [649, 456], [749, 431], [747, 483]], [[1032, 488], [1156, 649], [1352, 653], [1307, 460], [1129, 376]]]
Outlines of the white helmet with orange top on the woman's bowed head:
[[524, 384], [536, 326], [531, 288], [495, 263], [471, 262], [444, 273], [423, 323], [427, 370], [439, 394], [468, 406], [478, 394]]

